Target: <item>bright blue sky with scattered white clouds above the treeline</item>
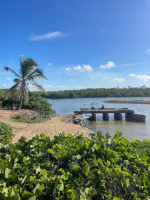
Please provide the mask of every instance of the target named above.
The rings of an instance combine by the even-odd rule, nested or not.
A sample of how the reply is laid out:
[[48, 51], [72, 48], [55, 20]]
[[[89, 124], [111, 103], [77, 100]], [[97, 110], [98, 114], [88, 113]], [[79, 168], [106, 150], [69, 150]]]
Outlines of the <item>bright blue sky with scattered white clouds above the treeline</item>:
[[0, 88], [19, 55], [43, 69], [46, 90], [150, 87], [149, 11], [149, 0], [1, 1]]

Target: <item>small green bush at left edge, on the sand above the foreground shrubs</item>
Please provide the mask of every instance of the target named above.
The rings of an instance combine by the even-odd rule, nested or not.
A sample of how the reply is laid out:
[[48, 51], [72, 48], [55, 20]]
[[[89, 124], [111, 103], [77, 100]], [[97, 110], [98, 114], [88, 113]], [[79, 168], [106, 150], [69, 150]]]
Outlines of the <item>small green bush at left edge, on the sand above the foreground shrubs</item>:
[[0, 145], [10, 143], [12, 138], [12, 127], [3, 122], [0, 122]]

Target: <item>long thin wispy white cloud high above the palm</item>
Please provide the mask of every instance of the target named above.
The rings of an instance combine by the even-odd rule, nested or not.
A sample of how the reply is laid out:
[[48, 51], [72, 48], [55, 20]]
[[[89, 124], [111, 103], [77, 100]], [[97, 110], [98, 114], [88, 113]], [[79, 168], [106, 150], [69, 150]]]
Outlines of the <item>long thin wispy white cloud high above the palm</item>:
[[46, 39], [52, 39], [52, 38], [59, 38], [64, 37], [65, 35], [61, 33], [60, 31], [50, 32], [43, 35], [32, 35], [30, 37], [31, 41], [38, 41], [38, 40], [46, 40]]

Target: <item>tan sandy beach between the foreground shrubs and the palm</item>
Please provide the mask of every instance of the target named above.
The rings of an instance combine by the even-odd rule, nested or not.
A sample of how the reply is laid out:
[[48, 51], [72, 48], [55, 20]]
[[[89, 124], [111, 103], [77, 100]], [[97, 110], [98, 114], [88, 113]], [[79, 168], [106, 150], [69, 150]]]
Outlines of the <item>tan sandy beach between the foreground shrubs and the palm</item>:
[[70, 119], [69, 115], [56, 115], [46, 122], [40, 122], [35, 124], [14, 122], [12, 117], [18, 114], [32, 113], [31, 110], [0, 110], [0, 121], [10, 124], [13, 127], [13, 132], [15, 137], [13, 142], [17, 142], [18, 139], [22, 136], [25, 136], [27, 139], [33, 137], [34, 135], [39, 135], [44, 133], [46, 136], [49, 136], [51, 139], [60, 133], [65, 135], [71, 134], [80, 134], [83, 133], [85, 137], [91, 133], [87, 128], [83, 128], [80, 125], [74, 124]]

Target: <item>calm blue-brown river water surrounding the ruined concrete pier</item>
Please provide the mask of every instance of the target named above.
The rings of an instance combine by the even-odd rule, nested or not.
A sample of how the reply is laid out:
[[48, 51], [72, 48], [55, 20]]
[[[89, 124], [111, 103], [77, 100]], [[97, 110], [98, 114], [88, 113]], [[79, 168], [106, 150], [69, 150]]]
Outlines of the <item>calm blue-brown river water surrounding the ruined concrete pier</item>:
[[150, 100], [150, 97], [112, 97], [112, 98], [78, 98], [78, 99], [48, 99], [53, 104], [52, 108], [57, 114], [72, 114], [81, 108], [100, 108], [102, 104], [105, 108], [128, 108], [134, 110], [135, 114], [146, 115], [145, 123], [127, 122], [123, 114], [122, 121], [114, 121], [113, 114], [109, 114], [109, 121], [102, 120], [102, 114], [97, 114], [97, 121], [91, 122], [85, 120], [84, 127], [89, 128], [91, 131], [102, 131], [103, 134], [109, 132], [114, 135], [116, 130], [123, 133], [124, 137], [129, 140], [150, 138], [150, 105], [148, 104], [112, 104], [105, 103], [104, 101], [112, 100]]

